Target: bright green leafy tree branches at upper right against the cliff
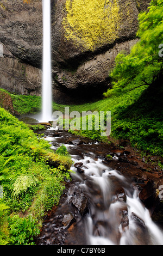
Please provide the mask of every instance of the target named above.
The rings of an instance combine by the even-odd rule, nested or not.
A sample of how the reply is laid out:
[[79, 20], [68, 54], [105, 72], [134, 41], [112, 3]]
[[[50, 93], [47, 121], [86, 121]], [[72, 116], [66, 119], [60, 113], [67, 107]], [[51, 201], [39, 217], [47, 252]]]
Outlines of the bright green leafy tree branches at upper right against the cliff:
[[[162, 72], [162, 58], [159, 45], [163, 41], [163, 1], [152, 1], [149, 10], [139, 15], [140, 41], [131, 49], [130, 54], [120, 53], [110, 77], [113, 88], [105, 97], [126, 93], [137, 87], [145, 88], [152, 84]], [[129, 87], [127, 87], [129, 85]]]

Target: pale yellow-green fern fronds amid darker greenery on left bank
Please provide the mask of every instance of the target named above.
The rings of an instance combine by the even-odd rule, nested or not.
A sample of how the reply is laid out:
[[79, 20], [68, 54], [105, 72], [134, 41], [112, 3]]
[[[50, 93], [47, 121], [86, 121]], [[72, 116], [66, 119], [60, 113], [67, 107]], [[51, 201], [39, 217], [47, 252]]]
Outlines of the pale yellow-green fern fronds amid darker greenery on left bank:
[[29, 187], [37, 185], [38, 180], [31, 175], [20, 175], [14, 182], [13, 196], [26, 192]]

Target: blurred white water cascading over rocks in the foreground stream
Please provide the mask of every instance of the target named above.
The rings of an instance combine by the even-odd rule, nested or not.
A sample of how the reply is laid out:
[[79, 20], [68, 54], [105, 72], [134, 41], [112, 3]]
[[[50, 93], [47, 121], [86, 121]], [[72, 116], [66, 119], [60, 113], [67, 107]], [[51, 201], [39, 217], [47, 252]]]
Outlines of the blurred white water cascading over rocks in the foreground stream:
[[[77, 160], [73, 156], [72, 160], [84, 164], [81, 167], [85, 173], [83, 177], [76, 172], [76, 168], [72, 166], [71, 169], [76, 172], [72, 174], [73, 179], [79, 181], [80, 187], [91, 199], [85, 223], [89, 245], [163, 245], [162, 230], [152, 221], [148, 209], [138, 197], [139, 191], [134, 190], [130, 180], [116, 170], [110, 170], [99, 159], [85, 157]], [[87, 181], [91, 183], [87, 184]], [[116, 200], [116, 186], [126, 192], [126, 202]], [[99, 204], [103, 205], [103, 210], [97, 207]], [[123, 210], [127, 212], [126, 227], [122, 227], [121, 223], [120, 212]]]

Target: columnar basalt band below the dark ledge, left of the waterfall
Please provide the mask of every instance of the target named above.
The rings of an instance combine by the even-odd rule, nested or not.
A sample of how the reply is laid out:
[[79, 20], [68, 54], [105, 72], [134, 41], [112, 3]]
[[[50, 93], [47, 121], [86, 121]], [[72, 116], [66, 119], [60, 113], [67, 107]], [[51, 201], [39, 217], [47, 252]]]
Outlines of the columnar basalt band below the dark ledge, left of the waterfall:
[[16, 94], [41, 95], [42, 71], [17, 59], [1, 44], [0, 87]]

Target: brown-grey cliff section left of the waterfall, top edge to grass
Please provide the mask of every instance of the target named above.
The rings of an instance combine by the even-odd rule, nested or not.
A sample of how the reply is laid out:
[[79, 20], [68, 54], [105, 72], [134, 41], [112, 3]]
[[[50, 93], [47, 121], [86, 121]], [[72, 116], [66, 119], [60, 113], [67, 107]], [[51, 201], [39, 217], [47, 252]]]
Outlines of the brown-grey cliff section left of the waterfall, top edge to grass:
[[1, 1], [0, 87], [17, 94], [41, 94], [42, 5]]

